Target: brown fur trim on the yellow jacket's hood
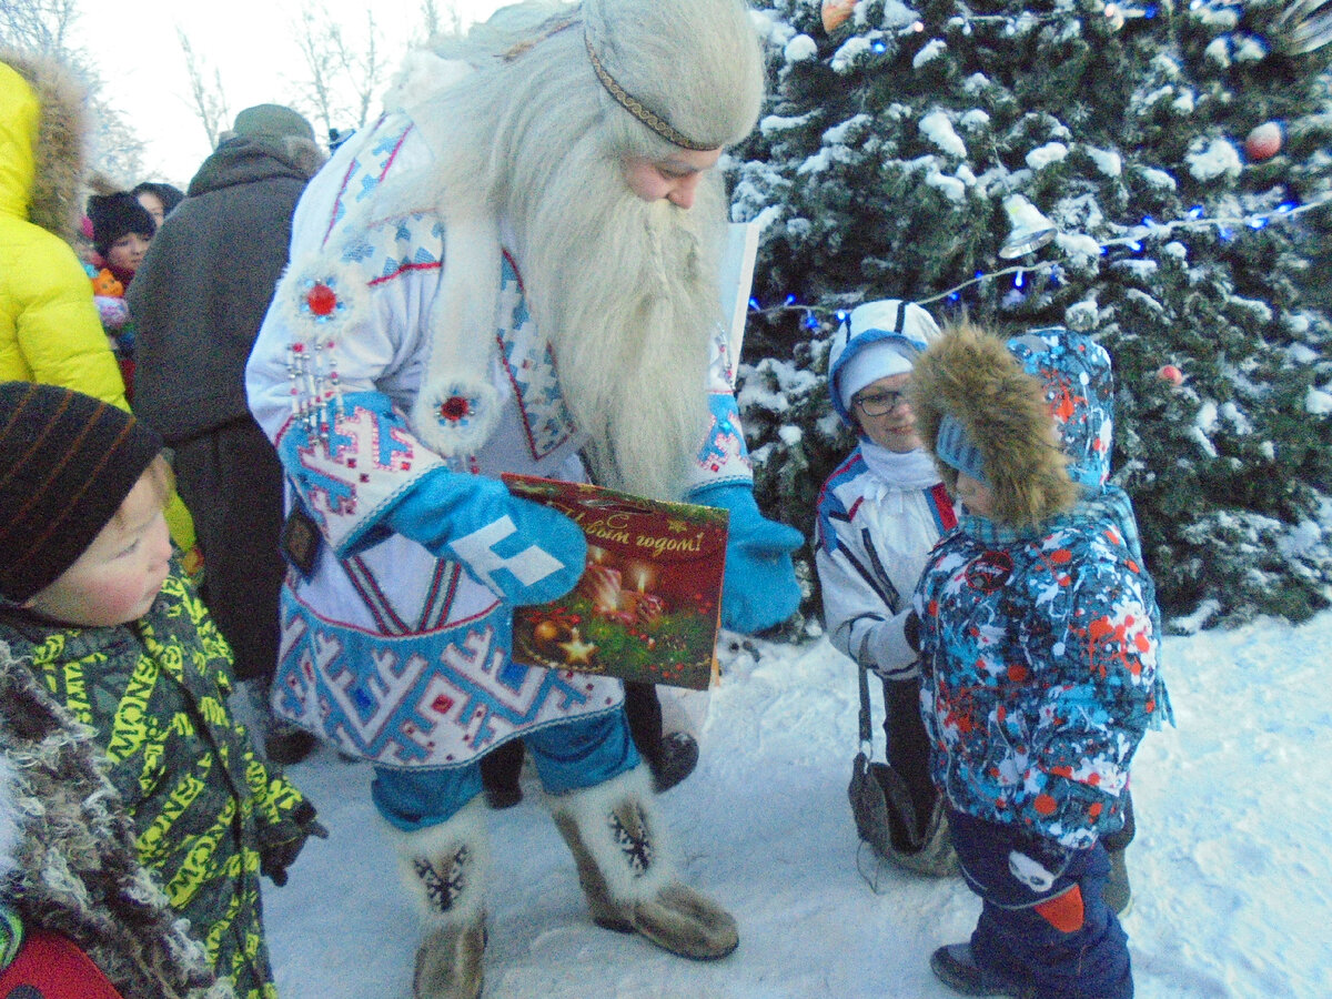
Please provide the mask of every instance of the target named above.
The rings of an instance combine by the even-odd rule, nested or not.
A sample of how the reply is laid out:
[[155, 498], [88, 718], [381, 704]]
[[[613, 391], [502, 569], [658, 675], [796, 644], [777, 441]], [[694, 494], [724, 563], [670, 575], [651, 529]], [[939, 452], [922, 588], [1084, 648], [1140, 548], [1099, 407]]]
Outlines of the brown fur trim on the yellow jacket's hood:
[[25, 151], [33, 161], [28, 221], [73, 244], [88, 141], [85, 88], [51, 59], [0, 51], [0, 63], [24, 79], [41, 108], [37, 140]]

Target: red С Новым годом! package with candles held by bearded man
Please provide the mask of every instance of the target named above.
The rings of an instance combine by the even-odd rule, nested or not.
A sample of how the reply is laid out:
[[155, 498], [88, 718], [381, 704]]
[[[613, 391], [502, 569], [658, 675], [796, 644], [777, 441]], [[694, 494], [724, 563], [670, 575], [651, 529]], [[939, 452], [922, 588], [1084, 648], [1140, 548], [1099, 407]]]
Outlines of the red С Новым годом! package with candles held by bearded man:
[[570, 517], [587, 566], [558, 601], [514, 610], [514, 658], [706, 690], [726, 567], [726, 510], [585, 482], [505, 476], [514, 496]]

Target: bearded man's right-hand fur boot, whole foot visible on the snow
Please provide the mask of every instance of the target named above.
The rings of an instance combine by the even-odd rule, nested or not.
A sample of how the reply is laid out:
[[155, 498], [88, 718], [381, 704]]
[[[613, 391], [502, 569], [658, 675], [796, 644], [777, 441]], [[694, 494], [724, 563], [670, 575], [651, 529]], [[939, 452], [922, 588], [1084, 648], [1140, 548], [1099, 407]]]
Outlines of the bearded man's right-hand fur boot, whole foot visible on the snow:
[[673, 876], [650, 781], [641, 766], [554, 799], [593, 922], [641, 934], [682, 958], [725, 958], [739, 944], [735, 919]]

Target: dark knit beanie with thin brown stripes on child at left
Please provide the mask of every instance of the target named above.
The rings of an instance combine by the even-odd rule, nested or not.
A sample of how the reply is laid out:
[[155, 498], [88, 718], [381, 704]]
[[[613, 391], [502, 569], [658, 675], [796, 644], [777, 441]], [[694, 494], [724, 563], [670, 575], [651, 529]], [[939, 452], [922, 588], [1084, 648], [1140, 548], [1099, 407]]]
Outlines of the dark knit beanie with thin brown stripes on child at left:
[[0, 597], [23, 603], [60, 578], [161, 449], [91, 396], [0, 382]]

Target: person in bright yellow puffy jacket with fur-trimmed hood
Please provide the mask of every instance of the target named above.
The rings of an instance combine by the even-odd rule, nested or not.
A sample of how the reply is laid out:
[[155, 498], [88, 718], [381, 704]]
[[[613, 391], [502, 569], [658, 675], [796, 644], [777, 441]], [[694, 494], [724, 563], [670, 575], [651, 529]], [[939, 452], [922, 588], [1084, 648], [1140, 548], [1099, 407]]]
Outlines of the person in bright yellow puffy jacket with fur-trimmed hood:
[[[71, 246], [79, 220], [83, 91], [60, 64], [0, 51], [0, 381], [76, 389], [128, 410], [92, 285]], [[194, 523], [168, 506], [186, 570], [202, 567]]]

